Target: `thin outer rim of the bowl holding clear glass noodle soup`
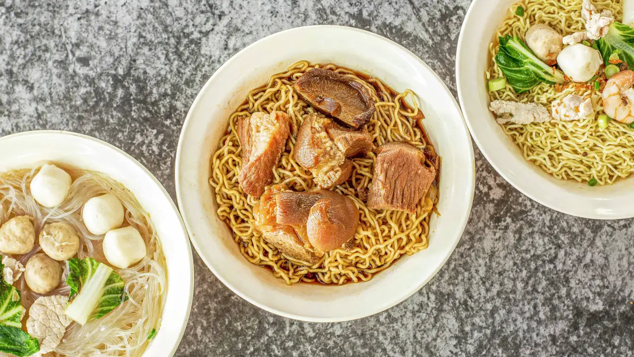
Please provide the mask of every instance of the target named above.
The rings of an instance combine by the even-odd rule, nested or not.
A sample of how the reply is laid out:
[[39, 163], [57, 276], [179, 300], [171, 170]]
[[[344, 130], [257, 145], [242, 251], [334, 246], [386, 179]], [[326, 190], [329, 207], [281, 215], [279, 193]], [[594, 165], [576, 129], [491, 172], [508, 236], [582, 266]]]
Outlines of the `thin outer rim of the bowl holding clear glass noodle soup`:
[[[188, 234], [187, 229], [186, 229], [186, 227], [184, 225], [183, 218], [181, 217], [181, 215], [180, 215], [180, 213], [178, 211], [178, 208], [176, 207], [176, 204], [174, 204], [174, 200], [171, 198], [171, 196], [169, 196], [169, 193], [167, 192], [167, 190], [165, 190], [165, 187], [163, 186], [163, 184], [161, 184], [160, 181], [153, 175], [153, 173], [150, 172], [150, 170], [148, 170], [143, 164], [141, 164], [137, 159], [133, 158], [133, 156], [131, 156], [130, 154], [127, 154], [127, 152], [123, 151], [122, 149], [119, 149], [119, 147], [116, 147], [115, 145], [112, 145], [112, 144], [110, 144], [108, 142], [105, 142], [105, 141], [103, 141], [103, 140], [101, 140], [99, 138], [91, 137], [89, 135], [84, 135], [84, 134], [81, 134], [81, 133], [75, 133], [75, 132], [72, 132], [72, 131], [65, 131], [65, 130], [30, 130], [30, 131], [22, 131], [20, 133], [13, 133], [13, 134], [10, 134], [10, 135], [4, 135], [3, 137], [0, 137], [0, 141], [9, 140], [11, 138], [16, 138], [16, 137], [27, 137], [27, 136], [32, 136], [32, 135], [51, 135], [51, 134], [76, 137], [76, 138], [80, 138], [80, 139], [83, 139], [83, 140], [87, 140], [89, 142], [93, 142], [96, 145], [101, 145], [101, 146], [103, 146], [103, 147], [105, 147], [105, 148], [107, 148], [107, 149], [109, 149], [111, 151], [114, 151], [116, 154], [120, 154], [124, 158], [128, 159], [129, 161], [131, 161], [131, 163], [133, 163], [134, 165], [138, 166], [138, 168], [140, 168], [143, 172], [145, 172], [145, 174], [157, 185], [157, 187], [159, 187], [160, 191], [163, 192], [163, 194], [165, 195], [165, 198], [167, 198], [167, 200], [169, 201], [172, 210], [174, 211], [174, 213], [176, 213], [176, 217], [178, 217], [178, 219], [179, 219], [181, 230], [183, 231], [184, 236], [189, 238], [189, 234]], [[174, 346], [171, 347], [171, 351], [169, 351], [169, 353], [166, 356], [173, 356], [174, 353], [176, 353], [176, 350], [178, 349], [179, 345], [181, 344], [181, 340], [183, 339], [183, 336], [184, 336], [184, 333], [185, 333], [185, 330], [186, 330], [186, 327], [187, 327], [187, 323], [188, 323], [188, 321], [190, 319], [191, 305], [193, 304], [195, 271], [194, 271], [194, 266], [193, 266], [193, 255], [191, 253], [191, 246], [189, 246], [189, 249], [186, 249], [185, 251], [187, 252], [187, 257], [188, 257], [188, 262], [189, 262], [190, 292], [188, 293], [186, 314], [184, 316], [183, 322], [181, 323], [181, 326], [179, 327], [180, 332], [176, 336], [176, 340], [174, 340]], [[176, 322], [174, 322], [174, 321], [170, 321], [170, 323], [172, 323], [172, 325], [176, 324]], [[152, 346], [152, 342], [150, 342], [150, 344], [148, 344], [148, 347], [146, 347], [146, 351], [143, 352], [143, 355], [145, 355], [145, 353], [150, 349], [150, 346]]]

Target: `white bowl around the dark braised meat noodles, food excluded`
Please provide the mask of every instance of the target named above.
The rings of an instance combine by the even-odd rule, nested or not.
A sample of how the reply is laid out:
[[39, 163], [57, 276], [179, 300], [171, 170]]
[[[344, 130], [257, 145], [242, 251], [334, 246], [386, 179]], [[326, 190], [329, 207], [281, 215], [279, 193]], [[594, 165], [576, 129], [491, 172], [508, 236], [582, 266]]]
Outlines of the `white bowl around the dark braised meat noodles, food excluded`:
[[[210, 157], [231, 112], [247, 92], [298, 60], [333, 62], [372, 74], [420, 96], [425, 128], [443, 158], [441, 217], [432, 218], [427, 250], [403, 257], [367, 283], [285, 285], [250, 264], [218, 219], [208, 183]], [[474, 194], [474, 156], [460, 109], [443, 81], [410, 51], [384, 37], [339, 26], [286, 30], [251, 44], [221, 66], [191, 105], [176, 154], [176, 194], [190, 238], [207, 266], [231, 290], [272, 313], [306, 321], [344, 321], [403, 301], [439, 271], [467, 223]]]

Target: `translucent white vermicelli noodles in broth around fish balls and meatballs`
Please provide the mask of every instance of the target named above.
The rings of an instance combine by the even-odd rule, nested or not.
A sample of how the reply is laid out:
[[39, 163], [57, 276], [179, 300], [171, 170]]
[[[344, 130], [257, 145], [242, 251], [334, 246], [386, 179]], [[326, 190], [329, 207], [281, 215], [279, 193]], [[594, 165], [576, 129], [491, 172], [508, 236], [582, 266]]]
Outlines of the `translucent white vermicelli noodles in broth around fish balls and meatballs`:
[[[165, 255], [148, 214], [139, 205], [132, 192], [119, 182], [99, 173], [84, 170], [66, 170], [73, 183], [65, 203], [58, 208], [44, 208], [34, 201], [29, 192], [29, 184], [40, 166], [32, 170], [16, 170], [0, 175], [0, 222], [4, 223], [15, 215], [34, 217], [36, 232], [44, 224], [65, 222], [70, 224], [80, 237], [79, 259], [92, 257], [106, 262], [101, 250], [103, 236], [91, 234], [81, 220], [81, 208], [86, 201], [100, 194], [112, 193], [119, 198], [126, 210], [124, 226], [133, 226], [141, 233], [146, 243], [148, 255], [129, 267], [116, 269], [115, 273], [126, 283], [125, 292], [129, 299], [115, 307], [98, 320], [81, 326], [72, 323], [66, 330], [61, 343], [53, 352], [45, 356], [131, 356], [138, 357], [145, 351], [148, 335], [160, 327], [165, 304], [167, 271]], [[36, 239], [36, 248], [22, 255], [20, 261], [26, 264], [30, 257], [41, 250]], [[63, 279], [68, 274], [65, 267]], [[40, 296], [25, 283], [24, 275], [16, 286], [22, 293], [22, 305], [27, 309]], [[63, 283], [48, 295], [68, 295], [70, 288]], [[25, 321], [27, 318], [23, 321]]]

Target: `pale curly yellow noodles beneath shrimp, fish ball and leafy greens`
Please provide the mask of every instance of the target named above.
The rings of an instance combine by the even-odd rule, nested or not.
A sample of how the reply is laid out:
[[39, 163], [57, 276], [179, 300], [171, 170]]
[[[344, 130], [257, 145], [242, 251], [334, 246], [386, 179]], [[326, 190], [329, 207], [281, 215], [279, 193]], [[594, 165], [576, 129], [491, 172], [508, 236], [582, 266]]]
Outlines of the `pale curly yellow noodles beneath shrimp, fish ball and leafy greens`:
[[[582, 0], [524, 0], [511, 6], [511, 17], [503, 22], [496, 33], [511, 34], [524, 38], [526, 30], [533, 24], [547, 24], [566, 36], [585, 29], [581, 19]], [[592, 1], [599, 11], [611, 10], [619, 20], [623, 17], [621, 0]], [[524, 15], [515, 15], [517, 6], [524, 8]], [[491, 62], [486, 77], [503, 77], [492, 58], [498, 53], [498, 42], [489, 44]], [[513, 100], [550, 104], [571, 93], [590, 95], [596, 116], [604, 114], [600, 91], [567, 88], [557, 91], [555, 86], [540, 84], [521, 95], [509, 84], [504, 90], [490, 91], [491, 100]], [[557, 179], [573, 179], [578, 182], [597, 180], [598, 184], [612, 184], [619, 177], [634, 172], [634, 130], [618, 121], [610, 121], [607, 129], [600, 130], [595, 118], [582, 121], [557, 121], [517, 125], [501, 125], [504, 132], [521, 149], [524, 158], [539, 166]]]

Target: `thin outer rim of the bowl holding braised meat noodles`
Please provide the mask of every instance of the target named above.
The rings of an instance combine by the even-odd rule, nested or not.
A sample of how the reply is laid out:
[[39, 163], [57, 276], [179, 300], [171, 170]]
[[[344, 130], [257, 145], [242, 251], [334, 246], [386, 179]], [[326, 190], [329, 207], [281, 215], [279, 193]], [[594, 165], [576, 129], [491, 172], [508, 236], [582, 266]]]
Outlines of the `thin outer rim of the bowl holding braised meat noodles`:
[[[375, 34], [373, 32], [367, 31], [367, 30], [362, 30], [362, 29], [357, 29], [355, 27], [348, 27], [348, 26], [342, 26], [342, 25], [308, 25], [308, 26], [301, 26], [301, 27], [294, 27], [292, 29], [286, 29], [286, 30], [281, 30], [280, 32], [276, 32], [275, 34], [270, 34], [269, 36], [266, 37], [262, 37], [261, 39], [255, 41], [254, 43], [249, 44], [248, 46], [245, 46], [245, 48], [243, 48], [242, 50], [238, 51], [237, 53], [235, 53], [235, 55], [231, 56], [231, 58], [229, 60], [227, 60], [226, 62], [224, 62], [223, 65], [221, 65], [220, 67], [218, 67], [218, 69], [214, 72], [214, 74], [212, 74], [211, 77], [209, 77], [209, 79], [207, 80], [207, 82], [205, 83], [205, 85], [201, 88], [201, 90], [198, 92], [197, 97], [195, 98], [195, 100], [193, 101], [193, 103], [191, 104], [190, 110], [187, 113], [186, 119], [183, 123], [183, 128], [181, 129], [181, 135], [179, 137], [178, 140], [178, 147], [176, 149], [176, 165], [175, 165], [175, 170], [174, 170], [174, 175], [175, 175], [175, 182], [176, 182], [176, 196], [177, 196], [177, 200], [178, 200], [178, 205], [179, 208], [181, 210], [181, 215], [183, 216], [183, 220], [185, 222], [185, 226], [187, 227], [188, 231], [190, 231], [190, 227], [191, 224], [190, 219], [188, 219], [188, 215], [186, 213], [186, 210], [183, 207], [183, 199], [182, 199], [182, 194], [181, 194], [181, 179], [179, 179], [180, 175], [180, 168], [181, 168], [181, 151], [182, 151], [182, 147], [183, 147], [183, 136], [186, 132], [186, 129], [188, 128], [188, 125], [190, 124], [190, 121], [192, 120], [192, 113], [193, 113], [193, 109], [195, 107], [197, 107], [198, 102], [200, 102], [200, 100], [202, 100], [202, 94], [204, 93], [204, 91], [207, 89], [208, 86], [210, 86], [210, 84], [214, 81], [214, 79], [216, 78], [217, 74], [221, 71], [223, 71], [223, 69], [225, 67], [227, 67], [228, 65], [230, 65], [233, 61], [236, 60], [236, 58], [240, 57], [240, 55], [249, 50], [250, 48], [257, 46], [259, 43], [262, 43], [263, 41], [268, 41], [272, 38], [278, 37], [278, 36], [283, 36], [284, 34], [287, 34], [288, 32], [294, 32], [297, 30], [306, 30], [306, 29], [336, 29], [336, 30], [342, 30], [342, 31], [350, 31], [350, 32], [358, 32], [359, 34], [364, 34], [365, 36], [371, 36], [374, 37], [375, 39], [378, 39], [380, 41], [384, 41], [387, 44], [390, 44], [391, 46], [396, 46], [397, 48], [399, 48], [399, 50], [404, 51], [405, 53], [407, 53], [408, 55], [410, 55], [411, 58], [415, 59], [419, 65], [421, 65], [422, 67], [424, 67], [427, 71], [430, 72], [430, 74], [432, 74], [432, 77], [434, 80], [436, 80], [439, 84], [441, 84], [444, 92], [446, 93], [446, 95], [448, 95], [448, 97], [451, 99], [450, 104], [453, 105], [453, 107], [456, 109], [456, 113], [458, 115], [460, 115], [460, 118], [462, 118], [462, 127], [465, 130], [465, 133], [467, 133], [467, 136], [469, 136], [469, 130], [467, 128], [467, 125], [464, 121], [464, 118], [462, 116], [462, 110], [460, 109], [460, 106], [458, 105], [458, 102], [456, 102], [456, 98], [453, 96], [453, 94], [451, 94], [451, 91], [448, 89], [448, 87], [446, 86], [446, 84], [444, 83], [443, 79], [441, 79], [441, 77], [438, 76], [438, 74], [436, 72], [434, 72], [431, 67], [429, 67], [429, 65], [427, 65], [420, 57], [418, 57], [417, 55], [415, 55], [415, 53], [411, 52], [410, 50], [408, 50], [407, 48], [405, 48], [404, 46], [402, 46], [401, 44], [398, 44], [394, 41], [392, 41], [391, 39], [387, 39], [384, 36], [380, 36], [378, 34]], [[253, 300], [249, 297], [249, 295], [247, 293], [244, 293], [242, 290], [236, 288], [235, 286], [233, 286], [228, 280], [226, 280], [226, 278], [224, 278], [224, 276], [222, 276], [221, 274], [217, 274], [216, 269], [214, 268], [213, 264], [211, 264], [211, 262], [202, 254], [198, 254], [200, 256], [200, 258], [203, 260], [203, 262], [205, 263], [205, 265], [207, 266], [208, 269], [210, 269], [210, 271], [212, 271], [212, 273], [214, 273], [214, 275], [216, 276], [216, 278], [218, 278], [225, 286], [227, 286], [228, 288], [230, 288], [230, 290], [234, 293], [236, 293], [238, 296], [242, 297], [242, 299], [247, 300], [247, 302], [250, 302], [250, 304], [253, 304], [254, 306], [257, 306], [261, 309], [263, 309], [264, 311], [268, 311], [269, 313], [273, 313], [273, 314], [277, 314], [279, 316], [283, 316], [285, 318], [291, 318], [294, 320], [301, 320], [301, 321], [309, 321], [309, 322], [324, 322], [324, 323], [328, 323], [328, 322], [342, 322], [342, 321], [350, 321], [350, 320], [357, 320], [359, 318], [365, 318], [367, 316], [372, 316], [373, 314], [377, 314], [380, 313], [382, 311], [385, 311], [387, 309], [390, 309], [391, 307], [396, 306], [397, 304], [400, 304], [401, 302], [403, 302], [404, 300], [408, 299], [409, 297], [411, 297], [411, 295], [413, 295], [414, 293], [416, 293], [418, 290], [420, 290], [420, 288], [422, 288], [424, 285], [426, 285], [427, 283], [429, 283], [430, 280], [432, 280], [432, 278], [434, 278], [434, 276], [436, 276], [436, 274], [440, 271], [440, 269], [442, 269], [442, 267], [444, 267], [444, 265], [446, 264], [447, 260], [449, 259], [449, 257], [451, 256], [451, 254], [453, 253], [453, 251], [455, 250], [456, 246], [458, 245], [458, 242], [460, 241], [460, 239], [462, 238], [462, 234], [467, 226], [467, 222], [469, 221], [469, 217], [470, 217], [470, 212], [471, 212], [471, 208], [473, 205], [473, 199], [474, 199], [474, 193], [475, 193], [475, 158], [474, 158], [474, 151], [473, 151], [473, 145], [471, 143], [470, 140], [467, 140], [467, 146], [469, 147], [470, 150], [467, 150], [468, 153], [467, 155], [469, 156], [469, 160], [472, 165], [470, 167], [470, 170], [466, 170], [465, 174], [467, 175], [468, 179], [467, 181], [470, 182], [469, 185], [469, 194], [470, 194], [470, 198], [469, 198], [469, 205], [466, 207], [467, 210], [465, 210], [465, 217], [463, 217], [463, 222], [460, 231], [460, 236], [458, 237], [458, 239], [456, 239], [455, 243], [453, 246], [451, 246], [451, 248], [448, 250], [448, 252], [446, 253], [446, 255], [443, 257], [442, 259], [442, 264], [439, 264], [434, 271], [429, 275], [428, 278], [420, 281], [420, 283], [418, 283], [417, 285], [412, 285], [411, 288], [409, 290], [404, 290], [404, 293], [401, 294], [401, 296], [399, 296], [396, 299], [390, 300], [389, 302], [387, 302], [387, 304], [384, 304], [383, 306], [380, 306], [380, 308], [375, 309], [373, 311], [370, 311], [368, 313], [358, 313], [358, 314], [351, 314], [345, 317], [340, 317], [340, 318], [315, 318], [313, 316], [302, 316], [302, 315], [298, 315], [298, 314], [292, 314], [292, 313], [287, 313], [285, 311], [280, 311], [279, 309], [275, 309], [273, 307], [269, 307], [266, 306], [265, 304], [261, 304], [259, 302], [257, 302], [256, 300]], [[191, 244], [194, 246], [194, 248], [196, 249], [197, 252], [199, 252], [199, 246], [197, 243], [197, 239], [196, 235], [193, 234], [193, 232], [190, 231], [190, 241]], [[245, 263], [247, 261], [245, 260]]]

